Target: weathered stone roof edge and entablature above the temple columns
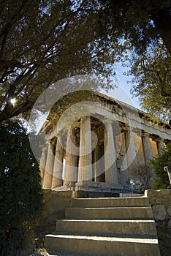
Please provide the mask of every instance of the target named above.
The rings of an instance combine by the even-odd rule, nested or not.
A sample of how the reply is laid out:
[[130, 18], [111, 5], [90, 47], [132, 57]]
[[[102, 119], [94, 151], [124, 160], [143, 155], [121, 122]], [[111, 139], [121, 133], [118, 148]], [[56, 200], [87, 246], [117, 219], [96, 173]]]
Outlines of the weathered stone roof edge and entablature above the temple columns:
[[[85, 91], [81, 92], [82, 96], [86, 97]], [[92, 97], [93, 95], [93, 97]], [[96, 100], [94, 100], [95, 98]], [[85, 99], [83, 99], [84, 97], [78, 97], [76, 102], [73, 101], [72, 102], [72, 94], [71, 94], [71, 98], [69, 98], [70, 102], [70, 107], [72, 105], [75, 105], [75, 103], [77, 103], [77, 101], [83, 102]], [[61, 101], [63, 100], [62, 104], [61, 102], [58, 103], [61, 107], [61, 105], [65, 105], [65, 98], [61, 99]], [[68, 100], [68, 99], [66, 99]], [[171, 138], [171, 132], [170, 132], [170, 125], [169, 124], [164, 124], [164, 122], [154, 122], [147, 113], [143, 112], [142, 110], [139, 110], [137, 108], [134, 108], [132, 105], [128, 105], [125, 102], [122, 102], [118, 99], [114, 99], [113, 97], [109, 97], [105, 94], [102, 94], [98, 91], [91, 91], [91, 101], [90, 102], [99, 102], [100, 105], [102, 105], [102, 109], [97, 110], [96, 107], [93, 107], [95, 110], [95, 112], [97, 114], [101, 114], [105, 117], [108, 115], [107, 118], [112, 118], [112, 120], [117, 120], [120, 123], [123, 124], [129, 124], [128, 120], [132, 119], [132, 124], [134, 128], [138, 128], [138, 129], [142, 129], [145, 130], [147, 129], [147, 132], [150, 132], [151, 134], [154, 134], [155, 136], [164, 136], [165, 139], [167, 139], [167, 137]], [[58, 109], [58, 104], [56, 104], [56, 109]], [[90, 103], [91, 105], [91, 103]], [[66, 107], [68, 107], [68, 102], [66, 102]], [[90, 107], [91, 108], [91, 107]], [[67, 108], [66, 108], [67, 109]], [[66, 110], [64, 109], [64, 110]], [[60, 109], [61, 110], [61, 109]], [[53, 110], [54, 111], [54, 110]], [[106, 112], [105, 112], [106, 111]], [[48, 118], [47, 121], [45, 121], [45, 123], [42, 126], [41, 132], [46, 131], [45, 133], [49, 134], [50, 137], [51, 135], [55, 135], [56, 133], [56, 125], [58, 124], [58, 118], [60, 116], [57, 116], [57, 112], [54, 112], [54, 116], [53, 116], [53, 112], [50, 113], [50, 117]], [[62, 112], [60, 112], [61, 115], [63, 114]], [[81, 112], [80, 112], [81, 113]], [[109, 114], [107, 114], [109, 113]], [[82, 114], [82, 113], [81, 113]], [[56, 115], [56, 116], [55, 116]], [[72, 113], [71, 113], [72, 115]], [[115, 118], [113, 118], [113, 115], [115, 116]], [[83, 116], [83, 115], [82, 115]], [[91, 116], [91, 115], [90, 115]], [[137, 116], [137, 117], [136, 117]], [[51, 119], [53, 118], [53, 119]], [[140, 124], [138, 124], [138, 122]]]

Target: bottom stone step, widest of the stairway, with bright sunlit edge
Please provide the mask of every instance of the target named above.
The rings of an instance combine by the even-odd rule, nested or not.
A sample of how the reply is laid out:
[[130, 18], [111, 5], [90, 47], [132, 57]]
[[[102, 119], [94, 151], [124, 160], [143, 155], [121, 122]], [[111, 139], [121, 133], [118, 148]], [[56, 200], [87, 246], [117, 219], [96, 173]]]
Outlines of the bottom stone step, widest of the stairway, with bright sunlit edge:
[[157, 239], [117, 238], [102, 236], [47, 235], [48, 252], [66, 252], [74, 255], [159, 256]]

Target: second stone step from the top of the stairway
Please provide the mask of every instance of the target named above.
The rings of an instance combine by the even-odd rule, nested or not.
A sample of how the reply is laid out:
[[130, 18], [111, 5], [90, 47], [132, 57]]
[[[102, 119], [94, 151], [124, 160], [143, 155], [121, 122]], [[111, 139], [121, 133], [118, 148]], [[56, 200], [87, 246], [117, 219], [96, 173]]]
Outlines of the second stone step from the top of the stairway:
[[151, 206], [66, 208], [66, 219], [153, 219]]

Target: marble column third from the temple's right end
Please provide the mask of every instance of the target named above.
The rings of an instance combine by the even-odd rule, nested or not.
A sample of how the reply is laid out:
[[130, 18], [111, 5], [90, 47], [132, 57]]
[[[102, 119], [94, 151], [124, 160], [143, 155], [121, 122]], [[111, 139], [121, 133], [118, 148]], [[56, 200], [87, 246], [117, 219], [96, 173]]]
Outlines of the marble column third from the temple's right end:
[[130, 171], [133, 167], [137, 166], [137, 152], [134, 146], [134, 137], [131, 127], [125, 127], [125, 146], [126, 146], [126, 160], [127, 167]]

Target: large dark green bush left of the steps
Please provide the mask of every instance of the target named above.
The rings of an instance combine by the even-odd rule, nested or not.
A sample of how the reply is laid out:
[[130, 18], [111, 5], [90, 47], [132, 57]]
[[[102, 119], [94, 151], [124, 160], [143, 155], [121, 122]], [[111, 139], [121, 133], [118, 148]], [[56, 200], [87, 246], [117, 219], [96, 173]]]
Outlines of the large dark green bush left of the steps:
[[0, 250], [17, 255], [24, 236], [42, 212], [39, 166], [26, 129], [16, 121], [0, 124]]

